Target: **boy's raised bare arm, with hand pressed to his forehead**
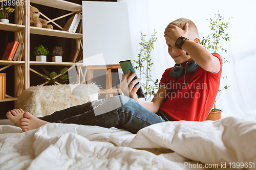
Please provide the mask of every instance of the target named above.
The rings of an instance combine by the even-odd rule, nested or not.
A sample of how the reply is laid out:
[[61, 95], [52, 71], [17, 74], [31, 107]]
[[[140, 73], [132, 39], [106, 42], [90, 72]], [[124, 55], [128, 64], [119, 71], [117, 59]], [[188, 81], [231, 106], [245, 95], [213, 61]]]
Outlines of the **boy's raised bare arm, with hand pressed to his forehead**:
[[[204, 47], [200, 45], [200, 39], [195, 38], [193, 33], [189, 34], [188, 23], [185, 25], [184, 30], [180, 29], [175, 25], [168, 25], [165, 29], [164, 37], [168, 38], [175, 44], [177, 39], [182, 36], [190, 38], [190, 40], [185, 40], [181, 48], [189, 54], [189, 56], [204, 70], [217, 72], [220, 70], [220, 61], [217, 57], [211, 55]], [[195, 38], [195, 39], [193, 39]]]

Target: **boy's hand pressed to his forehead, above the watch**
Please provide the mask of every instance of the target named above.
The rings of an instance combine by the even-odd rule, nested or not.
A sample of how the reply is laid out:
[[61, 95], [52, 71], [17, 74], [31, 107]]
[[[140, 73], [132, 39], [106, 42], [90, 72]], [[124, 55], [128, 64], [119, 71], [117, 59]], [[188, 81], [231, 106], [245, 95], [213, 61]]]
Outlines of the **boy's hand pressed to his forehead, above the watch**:
[[169, 24], [164, 32], [164, 37], [175, 43], [179, 37], [187, 37], [188, 35], [188, 23], [185, 25], [184, 30], [179, 27]]

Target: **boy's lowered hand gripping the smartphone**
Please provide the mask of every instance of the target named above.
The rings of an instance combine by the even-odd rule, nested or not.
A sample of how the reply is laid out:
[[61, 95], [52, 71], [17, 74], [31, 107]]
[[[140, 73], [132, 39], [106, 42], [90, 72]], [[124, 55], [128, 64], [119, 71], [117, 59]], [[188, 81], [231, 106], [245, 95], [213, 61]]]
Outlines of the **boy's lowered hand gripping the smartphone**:
[[[134, 72], [131, 76], [130, 76], [130, 74], [131, 74], [131, 70], [129, 69], [125, 75], [122, 75], [122, 81], [120, 83], [120, 88], [124, 95], [130, 96], [130, 98], [137, 100], [138, 95], [136, 92], [138, 91], [138, 89], [140, 88], [140, 86], [142, 84], [141, 83], [137, 84], [140, 81], [140, 78], [132, 81], [136, 76], [136, 72]], [[135, 84], [137, 84], [137, 85], [135, 86]]]

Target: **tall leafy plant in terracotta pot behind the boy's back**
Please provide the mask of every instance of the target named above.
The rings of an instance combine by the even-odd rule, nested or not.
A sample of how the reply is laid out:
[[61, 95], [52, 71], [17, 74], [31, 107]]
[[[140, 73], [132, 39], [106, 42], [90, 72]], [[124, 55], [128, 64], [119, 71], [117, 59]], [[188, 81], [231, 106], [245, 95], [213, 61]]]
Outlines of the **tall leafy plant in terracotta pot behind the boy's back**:
[[[228, 18], [228, 20], [229, 19], [230, 18]], [[208, 19], [206, 19], [206, 20], [208, 20]], [[221, 51], [227, 53], [227, 50], [225, 50], [219, 43], [221, 40], [229, 41], [228, 34], [225, 33], [225, 30], [228, 28], [228, 24], [229, 24], [229, 22], [225, 22], [224, 18], [220, 15], [220, 12], [218, 11], [218, 13], [215, 14], [213, 18], [210, 18], [210, 26], [209, 27], [211, 28], [212, 33], [210, 35], [208, 35], [207, 37], [203, 37], [200, 44], [203, 47], [205, 47], [209, 52], [216, 53], [218, 50], [221, 50]], [[229, 63], [229, 61], [223, 57], [222, 57], [222, 61], [224, 63], [226, 63], [226, 62]], [[227, 78], [227, 77], [223, 77], [223, 79], [224, 78]], [[217, 98], [214, 102], [214, 108], [211, 110], [211, 112], [209, 113], [206, 120], [218, 120], [221, 118], [222, 110], [216, 109], [216, 101], [219, 99], [222, 91], [226, 90], [228, 87], [230, 87], [230, 86], [225, 85], [223, 88], [219, 88]]]

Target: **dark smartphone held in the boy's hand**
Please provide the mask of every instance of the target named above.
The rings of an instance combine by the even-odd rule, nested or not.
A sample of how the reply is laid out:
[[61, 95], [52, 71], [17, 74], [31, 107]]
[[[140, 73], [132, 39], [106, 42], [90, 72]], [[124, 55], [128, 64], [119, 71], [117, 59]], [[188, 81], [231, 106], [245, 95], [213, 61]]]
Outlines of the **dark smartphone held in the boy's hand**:
[[[131, 60], [120, 61], [119, 64], [122, 68], [123, 74], [126, 74], [126, 72], [129, 69], [131, 70], [131, 75], [135, 72], [134, 67], [133, 67], [133, 63], [131, 62]], [[137, 75], [134, 77], [134, 79], [132, 81], [134, 81], [135, 79], [138, 79]], [[139, 82], [137, 84], [139, 84]], [[135, 84], [135, 86], [137, 84]], [[136, 93], [138, 95], [138, 98], [145, 98], [144, 92], [143, 92], [141, 87], [138, 89], [138, 91]]]

